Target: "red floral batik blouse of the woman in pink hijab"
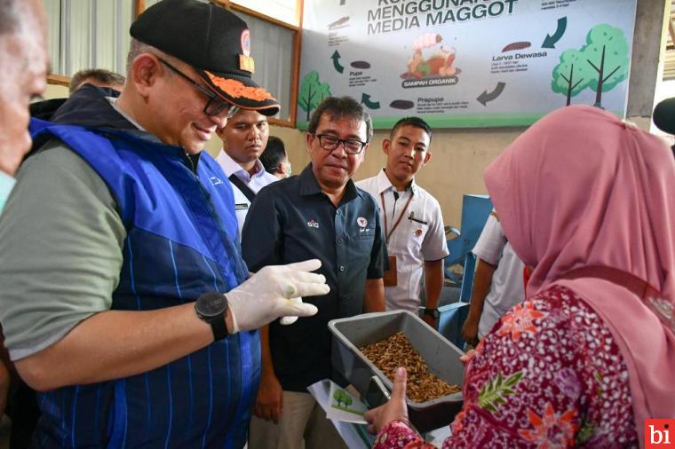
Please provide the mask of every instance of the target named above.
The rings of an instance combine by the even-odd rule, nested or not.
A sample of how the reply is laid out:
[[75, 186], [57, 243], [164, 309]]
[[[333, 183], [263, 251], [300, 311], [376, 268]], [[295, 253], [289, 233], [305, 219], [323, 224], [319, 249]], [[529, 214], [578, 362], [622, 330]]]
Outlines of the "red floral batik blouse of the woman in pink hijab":
[[[628, 371], [608, 327], [568, 288], [520, 303], [478, 345], [443, 448], [637, 447]], [[433, 447], [401, 421], [376, 449]]]

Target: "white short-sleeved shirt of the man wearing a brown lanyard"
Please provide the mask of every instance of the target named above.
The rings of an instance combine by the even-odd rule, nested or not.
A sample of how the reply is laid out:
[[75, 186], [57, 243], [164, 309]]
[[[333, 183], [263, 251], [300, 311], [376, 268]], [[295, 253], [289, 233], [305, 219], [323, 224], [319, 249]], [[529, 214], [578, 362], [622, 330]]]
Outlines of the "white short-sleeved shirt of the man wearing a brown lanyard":
[[[363, 179], [356, 185], [370, 193], [379, 205], [382, 232], [385, 232], [385, 210], [387, 214], [386, 221], [391, 234], [386, 249], [389, 256], [396, 256], [398, 279], [395, 287], [385, 287], [386, 309], [417, 313], [419, 283], [425, 271], [425, 261], [433, 262], [449, 255], [441, 205], [425, 189], [415, 184], [415, 180], [405, 192], [398, 193], [398, 200], [394, 200], [395, 189], [384, 169], [380, 170], [377, 177]], [[384, 208], [380, 193], [385, 199]], [[403, 212], [410, 195], [412, 200]], [[401, 222], [392, 232], [401, 212]]]

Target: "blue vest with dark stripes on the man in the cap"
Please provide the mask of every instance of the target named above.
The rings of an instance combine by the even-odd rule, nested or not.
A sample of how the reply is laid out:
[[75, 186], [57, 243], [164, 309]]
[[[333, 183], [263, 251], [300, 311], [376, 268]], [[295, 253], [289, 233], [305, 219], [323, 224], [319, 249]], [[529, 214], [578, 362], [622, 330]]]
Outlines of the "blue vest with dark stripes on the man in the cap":
[[[33, 129], [87, 161], [117, 202], [127, 237], [113, 310], [192, 303], [246, 278], [232, 187], [209, 154], [194, 172], [181, 148], [123, 131]], [[35, 443], [243, 447], [259, 374], [258, 332], [242, 332], [144, 374], [48, 391]]]

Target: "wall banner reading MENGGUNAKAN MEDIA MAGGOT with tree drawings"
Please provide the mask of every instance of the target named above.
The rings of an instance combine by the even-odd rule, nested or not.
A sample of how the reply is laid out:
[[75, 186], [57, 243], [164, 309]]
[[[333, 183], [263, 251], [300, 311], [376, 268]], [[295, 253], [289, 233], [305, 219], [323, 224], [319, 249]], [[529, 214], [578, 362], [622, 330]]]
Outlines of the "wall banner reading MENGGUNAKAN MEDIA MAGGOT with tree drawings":
[[311, 0], [298, 128], [349, 95], [375, 127], [523, 126], [561, 106], [623, 117], [636, 0]]

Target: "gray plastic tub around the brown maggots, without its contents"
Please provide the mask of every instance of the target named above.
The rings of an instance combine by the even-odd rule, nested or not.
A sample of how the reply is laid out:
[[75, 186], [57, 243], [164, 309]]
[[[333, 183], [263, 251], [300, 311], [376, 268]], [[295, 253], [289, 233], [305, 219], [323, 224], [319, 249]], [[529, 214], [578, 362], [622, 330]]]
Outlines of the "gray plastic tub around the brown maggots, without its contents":
[[[333, 319], [328, 327], [335, 335], [333, 366], [352, 383], [371, 408], [385, 403], [392, 382], [359, 348], [385, 340], [397, 332], [408, 337], [433, 374], [451, 384], [461, 386], [463, 383], [464, 364], [459, 361], [459, 356], [464, 352], [409, 311], [385, 311]], [[377, 387], [383, 385], [386, 390], [380, 391]], [[449, 425], [462, 409], [463, 399], [459, 392], [421, 404], [409, 399], [407, 402], [410, 422], [420, 432], [427, 432]]]

